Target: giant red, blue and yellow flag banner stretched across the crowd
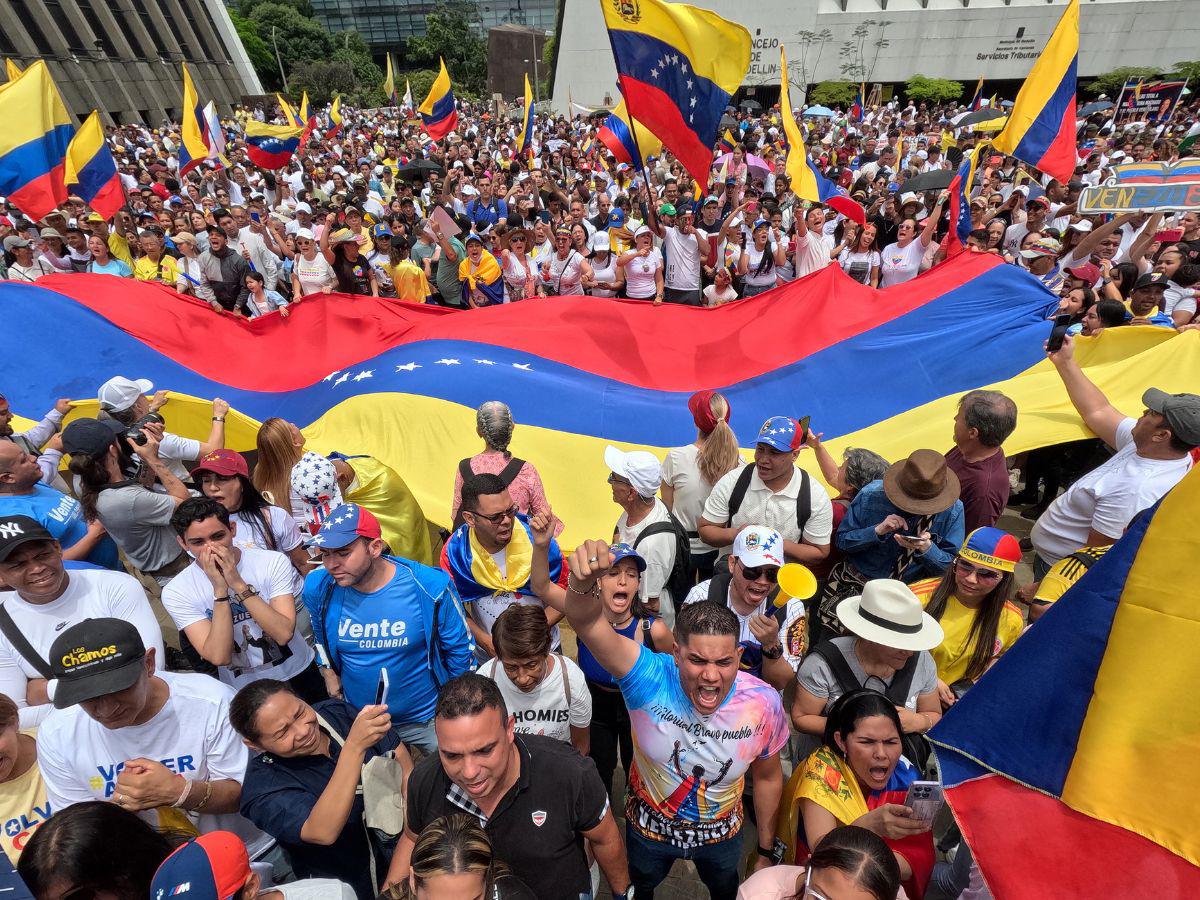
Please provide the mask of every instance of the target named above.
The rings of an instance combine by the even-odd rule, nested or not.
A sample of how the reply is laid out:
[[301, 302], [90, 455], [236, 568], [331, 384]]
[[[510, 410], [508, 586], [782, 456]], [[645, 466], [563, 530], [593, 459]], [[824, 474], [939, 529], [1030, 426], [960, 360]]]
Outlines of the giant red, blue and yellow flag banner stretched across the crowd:
[[[41, 416], [56, 397], [92, 398], [114, 374], [221, 396], [248, 419], [296, 422], [313, 449], [377, 456], [443, 524], [455, 467], [481, 449], [474, 408], [502, 400], [518, 422], [512, 452], [536, 463], [566, 522], [564, 546], [612, 534], [619, 509], [605, 445], [661, 458], [690, 443], [688, 397], [702, 388], [730, 397], [746, 448], [767, 418], [811, 415], [834, 454], [946, 450], [959, 397], [988, 385], [1020, 407], [1009, 452], [1087, 436], [1042, 350], [1056, 299], [1016, 266], [973, 253], [886, 290], [828, 266], [715, 310], [580, 296], [461, 312], [334, 294], [287, 319], [245, 322], [103, 275], [0, 283], [0, 391], [19, 415]], [[1081, 340], [1076, 355], [1133, 413], [1150, 385], [1200, 383], [1195, 331], [1109, 330]], [[208, 433], [204, 404], [163, 413], [180, 433]], [[232, 444], [253, 446], [252, 426], [230, 427]], [[800, 462], [816, 473], [811, 454]]]

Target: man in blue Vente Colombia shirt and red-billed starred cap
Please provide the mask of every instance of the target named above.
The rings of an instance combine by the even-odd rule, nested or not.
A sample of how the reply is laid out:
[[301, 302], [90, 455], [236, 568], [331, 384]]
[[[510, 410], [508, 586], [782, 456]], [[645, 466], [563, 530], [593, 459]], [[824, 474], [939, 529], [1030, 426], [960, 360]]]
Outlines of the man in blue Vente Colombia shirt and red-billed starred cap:
[[475, 642], [450, 576], [385, 556], [379, 521], [335, 508], [311, 545], [324, 569], [304, 586], [318, 664], [331, 696], [361, 709], [388, 670], [388, 709], [401, 739], [434, 752], [438, 686], [474, 667]]

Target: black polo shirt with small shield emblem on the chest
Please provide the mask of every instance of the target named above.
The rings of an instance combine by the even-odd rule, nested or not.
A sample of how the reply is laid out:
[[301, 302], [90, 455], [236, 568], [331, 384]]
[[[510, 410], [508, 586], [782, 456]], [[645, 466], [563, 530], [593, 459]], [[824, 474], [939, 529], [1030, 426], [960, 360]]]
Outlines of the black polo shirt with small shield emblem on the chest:
[[521, 774], [490, 817], [450, 781], [434, 754], [408, 780], [407, 827], [420, 834], [439, 816], [474, 815], [496, 856], [539, 900], [578, 900], [592, 892], [582, 833], [600, 824], [608, 794], [595, 763], [570, 744], [541, 734], [515, 740]]

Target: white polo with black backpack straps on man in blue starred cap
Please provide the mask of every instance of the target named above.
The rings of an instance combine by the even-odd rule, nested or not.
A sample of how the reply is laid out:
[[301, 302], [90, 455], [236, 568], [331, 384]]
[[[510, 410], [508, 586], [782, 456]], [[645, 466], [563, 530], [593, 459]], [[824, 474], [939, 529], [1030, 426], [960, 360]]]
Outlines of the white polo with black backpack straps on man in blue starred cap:
[[[703, 517], [709, 522], [725, 524], [730, 517], [730, 496], [733, 486], [742, 474], [743, 467], [738, 466], [732, 472], [713, 485], [713, 492], [704, 502]], [[800, 496], [800, 470], [792, 467], [792, 479], [782, 491], [773, 492], [758, 478], [757, 469], [750, 474], [750, 485], [746, 487], [742, 505], [733, 515], [731, 528], [758, 524], [774, 528], [782, 535], [784, 540], [799, 542], [803, 538], [809, 544], [823, 546], [829, 542], [833, 534], [833, 503], [829, 493], [817, 479], [809, 476], [809, 517], [804, 523], [804, 534], [796, 527], [796, 503]], [[730, 547], [721, 547], [721, 558], [728, 556]]]

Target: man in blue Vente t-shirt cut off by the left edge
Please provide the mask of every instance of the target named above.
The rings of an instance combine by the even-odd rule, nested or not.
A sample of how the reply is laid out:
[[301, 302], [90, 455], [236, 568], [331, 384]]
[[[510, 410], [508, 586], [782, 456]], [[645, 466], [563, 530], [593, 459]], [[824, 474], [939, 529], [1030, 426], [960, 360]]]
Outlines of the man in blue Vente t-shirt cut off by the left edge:
[[88, 523], [79, 500], [42, 482], [37, 457], [0, 442], [0, 516], [29, 516], [62, 545], [64, 559], [121, 570], [116, 544], [96, 520]]

